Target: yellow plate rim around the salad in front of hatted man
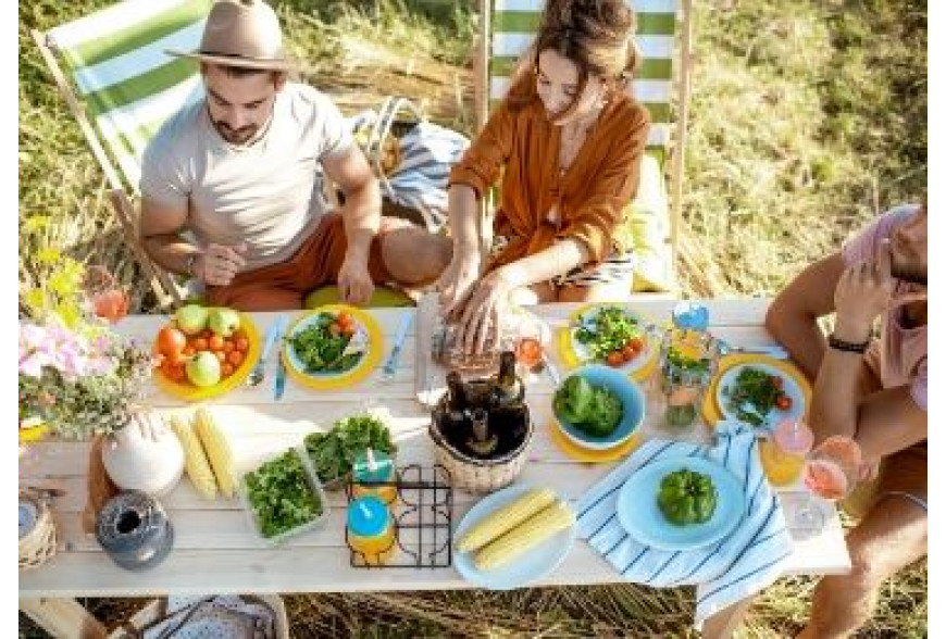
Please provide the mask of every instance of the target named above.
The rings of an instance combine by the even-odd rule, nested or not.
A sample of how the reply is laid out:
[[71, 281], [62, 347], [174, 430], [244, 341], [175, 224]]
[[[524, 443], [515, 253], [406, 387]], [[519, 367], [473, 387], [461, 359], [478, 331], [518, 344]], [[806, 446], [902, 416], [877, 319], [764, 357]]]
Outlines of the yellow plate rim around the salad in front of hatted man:
[[[350, 371], [346, 371], [341, 374], [319, 374], [313, 375], [311, 373], [306, 373], [301, 366], [301, 363], [297, 362], [292, 355], [289, 354], [289, 349], [292, 348], [289, 339], [292, 335], [304, 327], [306, 324], [309, 323], [311, 317], [314, 317], [319, 313], [324, 312], [341, 312], [346, 311], [354, 317], [354, 321], [368, 333], [368, 352], [361, 358], [361, 361]], [[352, 384], [358, 384], [365, 377], [368, 377], [372, 371], [377, 366], [378, 362], [381, 362], [382, 352], [384, 350], [384, 337], [381, 331], [381, 326], [378, 326], [377, 321], [374, 318], [374, 315], [368, 313], [361, 309], [356, 309], [354, 306], [349, 306], [347, 304], [326, 304], [324, 306], [319, 306], [318, 309], [313, 309], [308, 313], [302, 314], [298, 320], [296, 320], [289, 329], [286, 331], [286, 339], [283, 348], [281, 349], [281, 354], [283, 358], [283, 363], [286, 365], [286, 372], [289, 374], [297, 384], [301, 386], [306, 386], [308, 388], [314, 388], [316, 390], [331, 390], [336, 388], [344, 388], [346, 386], [351, 386]], [[295, 353], [294, 353], [295, 354]]]

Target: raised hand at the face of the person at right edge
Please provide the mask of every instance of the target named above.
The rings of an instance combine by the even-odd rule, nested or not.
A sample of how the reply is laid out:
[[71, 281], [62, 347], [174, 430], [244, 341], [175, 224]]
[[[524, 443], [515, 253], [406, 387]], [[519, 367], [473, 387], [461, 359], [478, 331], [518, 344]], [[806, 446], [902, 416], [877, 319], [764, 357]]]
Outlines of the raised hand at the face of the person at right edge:
[[835, 335], [845, 341], [867, 341], [874, 318], [892, 306], [895, 286], [891, 246], [884, 241], [873, 260], [856, 262], [841, 276], [834, 289]]

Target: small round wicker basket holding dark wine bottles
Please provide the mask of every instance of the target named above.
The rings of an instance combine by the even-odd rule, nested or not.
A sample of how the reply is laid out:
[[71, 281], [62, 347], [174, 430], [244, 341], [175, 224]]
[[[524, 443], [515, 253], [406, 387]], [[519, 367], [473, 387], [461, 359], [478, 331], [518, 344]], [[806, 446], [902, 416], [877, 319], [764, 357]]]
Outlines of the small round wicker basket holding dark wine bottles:
[[515, 480], [528, 459], [528, 447], [535, 434], [535, 426], [527, 406], [525, 411], [526, 431], [522, 443], [509, 453], [489, 460], [472, 458], [457, 450], [447, 441], [437, 425], [438, 412], [434, 411], [428, 430], [431, 439], [436, 444], [437, 463], [450, 472], [455, 488], [462, 488], [471, 492], [493, 492]]

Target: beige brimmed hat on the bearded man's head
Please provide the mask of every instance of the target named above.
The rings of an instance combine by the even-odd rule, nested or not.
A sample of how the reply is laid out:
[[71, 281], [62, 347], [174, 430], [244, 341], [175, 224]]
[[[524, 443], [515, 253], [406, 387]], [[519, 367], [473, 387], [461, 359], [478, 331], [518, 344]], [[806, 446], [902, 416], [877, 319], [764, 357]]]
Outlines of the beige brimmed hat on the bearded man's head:
[[283, 32], [276, 13], [262, 0], [217, 0], [207, 16], [200, 48], [166, 53], [224, 66], [298, 70], [283, 51]]

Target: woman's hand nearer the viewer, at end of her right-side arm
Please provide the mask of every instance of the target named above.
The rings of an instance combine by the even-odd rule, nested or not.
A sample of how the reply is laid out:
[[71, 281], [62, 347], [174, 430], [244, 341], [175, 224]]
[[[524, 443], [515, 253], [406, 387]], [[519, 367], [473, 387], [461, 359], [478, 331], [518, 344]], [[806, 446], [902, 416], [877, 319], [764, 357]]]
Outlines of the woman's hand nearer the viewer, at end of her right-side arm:
[[457, 325], [457, 341], [463, 346], [463, 352], [482, 353], [489, 338], [494, 344], [499, 343], [509, 296], [515, 288], [506, 268], [497, 268], [480, 280], [463, 304]]

